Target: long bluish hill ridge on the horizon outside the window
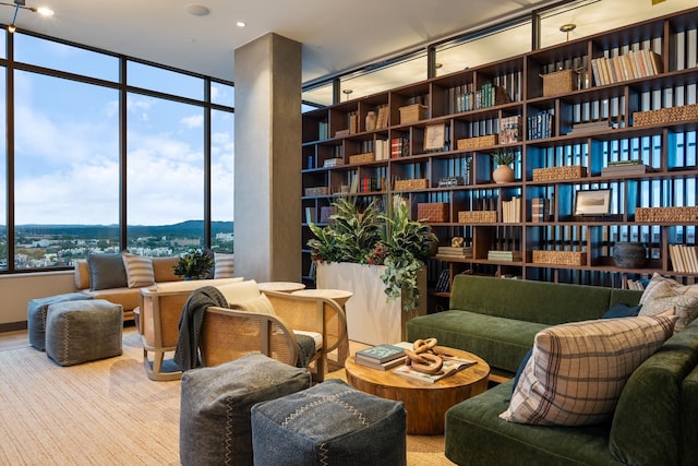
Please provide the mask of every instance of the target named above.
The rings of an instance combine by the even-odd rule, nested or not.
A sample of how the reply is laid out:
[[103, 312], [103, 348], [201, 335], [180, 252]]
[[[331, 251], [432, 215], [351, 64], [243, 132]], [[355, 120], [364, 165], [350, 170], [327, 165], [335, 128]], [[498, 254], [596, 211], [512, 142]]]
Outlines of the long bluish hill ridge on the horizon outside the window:
[[[203, 220], [186, 220], [173, 225], [129, 225], [129, 236], [136, 237], [198, 237], [204, 230]], [[212, 236], [234, 231], [233, 222], [213, 222]], [[72, 236], [77, 238], [108, 238], [118, 235], [118, 225], [19, 225], [19, 235]], [[0, 225], [0, 234], [7, 226]]]

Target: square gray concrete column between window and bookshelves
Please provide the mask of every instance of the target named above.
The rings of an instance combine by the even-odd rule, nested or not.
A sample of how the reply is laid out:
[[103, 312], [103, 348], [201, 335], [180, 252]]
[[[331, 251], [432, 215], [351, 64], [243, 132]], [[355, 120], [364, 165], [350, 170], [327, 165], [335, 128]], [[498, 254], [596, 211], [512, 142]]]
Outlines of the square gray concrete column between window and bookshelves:
[[301, 279], [301, 44], [274, 33], [238, 49], [236, 275]]

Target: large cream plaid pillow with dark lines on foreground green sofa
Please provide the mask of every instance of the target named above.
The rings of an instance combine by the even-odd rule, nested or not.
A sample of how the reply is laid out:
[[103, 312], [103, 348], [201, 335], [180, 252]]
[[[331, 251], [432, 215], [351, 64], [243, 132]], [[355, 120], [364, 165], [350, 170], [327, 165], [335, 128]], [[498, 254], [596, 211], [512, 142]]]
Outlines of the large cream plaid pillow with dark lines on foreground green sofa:
[[627, 378], [669, 338], [675, 315], [601, 319], [545, 328], [502, 419], [547, 426], [607, 420]]

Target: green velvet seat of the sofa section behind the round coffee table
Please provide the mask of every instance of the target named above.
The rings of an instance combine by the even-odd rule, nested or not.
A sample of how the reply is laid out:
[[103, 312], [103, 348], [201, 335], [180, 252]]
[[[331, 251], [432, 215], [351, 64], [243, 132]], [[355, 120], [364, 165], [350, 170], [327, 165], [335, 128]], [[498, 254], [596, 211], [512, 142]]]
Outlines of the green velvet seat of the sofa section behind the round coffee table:
[[440, 345], [483, 357], [488, 363], [516, 372], [533, 337], [547, 325], [468, 311], [444, 311], [407, 322], [407, 339], [435, 337]]

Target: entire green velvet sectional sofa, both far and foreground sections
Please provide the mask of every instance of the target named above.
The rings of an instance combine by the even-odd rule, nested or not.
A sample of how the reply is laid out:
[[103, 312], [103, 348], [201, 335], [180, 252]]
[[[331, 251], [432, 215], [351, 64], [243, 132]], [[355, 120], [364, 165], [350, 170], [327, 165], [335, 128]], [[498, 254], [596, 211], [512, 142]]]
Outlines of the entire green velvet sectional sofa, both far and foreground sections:
[[[600, 318], [639, 291], [457, 276], [450, 310], [408, 323], [408, 338], [482, 356], [515, 371], [538, 330]], [[507, 353], [510, 353], [508, 355]], [[694, 465], [698, 458], [698, 320], [667, 339], [636, 369], [611, 421], [585, 427], [507, 422], [514, 381], [446, 413], [445, 454], [458, 465]]]

